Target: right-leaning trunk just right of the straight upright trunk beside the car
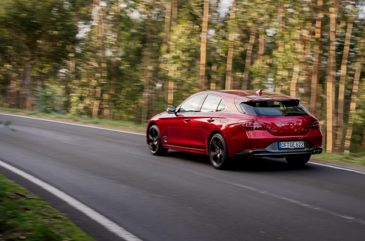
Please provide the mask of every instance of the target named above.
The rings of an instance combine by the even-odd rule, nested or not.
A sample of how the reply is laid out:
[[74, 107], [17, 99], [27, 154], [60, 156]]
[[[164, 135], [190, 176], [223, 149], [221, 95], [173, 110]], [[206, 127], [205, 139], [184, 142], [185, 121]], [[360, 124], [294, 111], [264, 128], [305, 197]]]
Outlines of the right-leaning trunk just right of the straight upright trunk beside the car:
[[349, 56], [350, 49], [350, 38], [352, 32], [354, 18], [350, 17], [349, 22], [347, 23], [346, 29], [346, 37], [345, 37], [345, 46], [343, 47], [342, 61], [341, 61], [341, 77], [338, 88], [338, 109], [337, 109], [337, 138], [336, 138], [336, 146], [339, 150], [341, 150], [341, 142], [342, 142], [342, 130], [343, 130], [343, 99], [345, 98], [345, 84], [346, 84], [346, 70], [347, 70], [347, 58]]

